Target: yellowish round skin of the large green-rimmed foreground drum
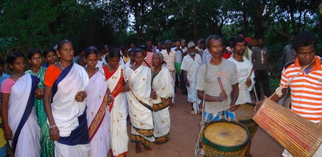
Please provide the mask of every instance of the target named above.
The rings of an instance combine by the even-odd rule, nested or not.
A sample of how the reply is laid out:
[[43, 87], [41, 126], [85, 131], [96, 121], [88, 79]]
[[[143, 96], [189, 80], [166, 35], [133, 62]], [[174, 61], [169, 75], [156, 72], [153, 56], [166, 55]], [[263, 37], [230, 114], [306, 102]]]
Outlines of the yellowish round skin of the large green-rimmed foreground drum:
[[231, 122], [218, 122], [208, 125], [205, 138], [223, 146], [242, 145], [249, 139], [249, 132], [242, 125]]

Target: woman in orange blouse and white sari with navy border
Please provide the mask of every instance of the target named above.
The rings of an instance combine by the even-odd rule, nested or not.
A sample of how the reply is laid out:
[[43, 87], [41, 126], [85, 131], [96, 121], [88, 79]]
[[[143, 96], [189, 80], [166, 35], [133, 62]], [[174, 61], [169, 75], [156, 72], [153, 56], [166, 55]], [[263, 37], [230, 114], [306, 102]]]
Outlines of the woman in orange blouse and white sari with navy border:
[[60, 61], [47, 68], [44, 80], [44, 108], [55, 156], [88, 156], [90, 152], [85, 92], [86, 70], [73, 63], [74, 49], [68, 40], [58, 44]]

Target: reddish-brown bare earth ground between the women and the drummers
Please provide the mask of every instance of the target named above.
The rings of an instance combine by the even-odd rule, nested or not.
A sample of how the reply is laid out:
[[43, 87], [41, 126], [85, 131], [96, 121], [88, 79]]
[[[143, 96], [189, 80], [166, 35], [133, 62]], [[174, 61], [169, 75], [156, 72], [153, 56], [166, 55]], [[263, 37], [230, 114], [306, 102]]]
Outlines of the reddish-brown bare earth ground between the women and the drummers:
[[[151, 144], [151, 151], [147, 151], [141, 146], [143, 153], [135, 152], [134, 143], [129, 141], [128, 156], [192, 156], [193, 146], [196, 142], [194, 136], [200, 130], [199, 122], [201, 114], [190, 115], [191, 106], [187, 102], [187, 95], [181, 95], [180, 88], [177, 88], [175, 106], [170, 109], [170, 139], [164, 144]], [[131, 134], [128, 125], [129, 136]], [[283, 151], [275, 140], [269, 137], [265, 131], [258, 129], [251, 147], [251, 154], [254, 157], [260, 156], [280, 156]], [[198, 156], [203, 156], [198, 154]]]

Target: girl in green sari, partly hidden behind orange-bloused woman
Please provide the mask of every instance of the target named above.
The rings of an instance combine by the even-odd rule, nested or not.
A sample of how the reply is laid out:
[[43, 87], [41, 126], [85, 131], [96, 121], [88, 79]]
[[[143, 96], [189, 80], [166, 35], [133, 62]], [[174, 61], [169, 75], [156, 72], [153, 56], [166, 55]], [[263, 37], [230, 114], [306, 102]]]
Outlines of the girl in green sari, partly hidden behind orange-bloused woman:
[[[50, 52], [52, 53], [52, 52]], [[48, 54], [47, 54], [48, 55]], [[55, 55], [56, 56], [56, 55]], [[56, 58], [56, 57], [55, 57]], [[54, 141], [50, 139], [50, 132], [47, 125], [47, 116], [44, 109], [44, 78], [46, 67], [41, 67], [43, 62], [43, 55], [38, 49], [31, 49], [28, 51], [28, 62], [31, 64], [31, 69], [25, 73], [34, 75], [40, 79], [38, 84], [38, 97], [34, 100], [34, 109], [36, 111], [38, 124], [41, 129], [41, 155], [42, 156], [54, 156], [55, 145]], [[47, 62], [48, 63], [48, 62]]]

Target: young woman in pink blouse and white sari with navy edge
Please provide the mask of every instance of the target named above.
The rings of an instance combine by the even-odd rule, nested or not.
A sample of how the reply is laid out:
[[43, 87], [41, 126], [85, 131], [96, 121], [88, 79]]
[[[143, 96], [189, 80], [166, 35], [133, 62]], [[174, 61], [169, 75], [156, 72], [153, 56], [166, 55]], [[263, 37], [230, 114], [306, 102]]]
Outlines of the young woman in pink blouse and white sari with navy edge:
[[34, 110], [34, 97], [41, 97], [37, 90], [39, 78], [25, 74], [25, 57], [15, 52], [8, 57], [13, 74], [1, 86], [4, 136], [15, 156], [40, 156], [40, 129]]

